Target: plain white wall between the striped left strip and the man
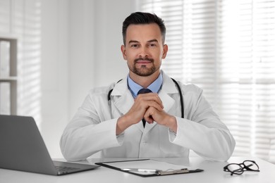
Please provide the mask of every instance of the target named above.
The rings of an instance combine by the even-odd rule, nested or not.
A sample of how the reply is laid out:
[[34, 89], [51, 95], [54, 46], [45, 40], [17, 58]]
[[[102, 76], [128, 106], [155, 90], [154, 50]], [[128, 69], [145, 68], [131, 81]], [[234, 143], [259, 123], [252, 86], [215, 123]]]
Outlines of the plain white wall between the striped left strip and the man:
[[128, 73], [121, 27], [133, 11], [135, 0], [42, 1], [42, 136], [52, 158], [89, 90]]

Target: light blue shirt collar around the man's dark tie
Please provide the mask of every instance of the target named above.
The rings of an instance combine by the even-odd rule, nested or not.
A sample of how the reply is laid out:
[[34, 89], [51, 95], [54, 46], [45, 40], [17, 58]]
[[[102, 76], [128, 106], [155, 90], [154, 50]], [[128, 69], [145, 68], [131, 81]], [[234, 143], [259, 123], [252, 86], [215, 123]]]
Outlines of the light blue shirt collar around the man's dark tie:
[[[142, 89], [143, 87], [140, 86], [140, 84], [137, 84], [136, 82], [134, 82], [130, 76], [128, 75], [128, 88], [130, 89], [130, 92], [132, 93], [133, 97], [137, 97], [138, 96], [138, 91], [140, 91], [140, 89]], [[154, 80], [154, 82], [152, 82], [152, 84], [149, 85], [149, 87], [147, 87], [147, 89], [150, 89], [153, 93], [158, 93], [159, 90], [161, 89], [161, 85], [162, 85], [162, 72], [159, 74], [159, 77], [157, 77], [157, 80]]]

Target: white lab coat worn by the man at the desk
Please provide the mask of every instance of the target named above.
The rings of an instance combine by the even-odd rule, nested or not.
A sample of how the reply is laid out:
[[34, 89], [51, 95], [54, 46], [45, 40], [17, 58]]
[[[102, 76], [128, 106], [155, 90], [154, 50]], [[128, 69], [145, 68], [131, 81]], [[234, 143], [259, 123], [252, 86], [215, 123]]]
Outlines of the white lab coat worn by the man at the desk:
[[[227, 160], [235, 147], [228, 128], [204, 99], [202, 89], [178, 83], [185, 118], [181, 118], [178, 89], [164, 72], [159, 91], [164, 111], [176, 116], [176, 134], [156, 122], [144, 128], [141, 121], [116, 136], [118, 118], [134, 103], [127, 78], [109, 87], [92, 89], [63, 132], [60, 145], [64, 158], [83, 160], [98, 151], [102, 151], [102, 158], [188, 157], [192, 149], [209, 160]], [[108, 101], [108, 92], [113, 88]]]

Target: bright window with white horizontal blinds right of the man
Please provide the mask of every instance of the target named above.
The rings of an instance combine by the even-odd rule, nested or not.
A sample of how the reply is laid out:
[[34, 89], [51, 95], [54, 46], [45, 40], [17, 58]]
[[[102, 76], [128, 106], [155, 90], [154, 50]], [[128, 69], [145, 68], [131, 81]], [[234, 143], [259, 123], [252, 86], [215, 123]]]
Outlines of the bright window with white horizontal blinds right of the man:
[[142, 0], [167, 28], [162, 68], [194, 83], [236, 139], [275, 162], [275, 0]]

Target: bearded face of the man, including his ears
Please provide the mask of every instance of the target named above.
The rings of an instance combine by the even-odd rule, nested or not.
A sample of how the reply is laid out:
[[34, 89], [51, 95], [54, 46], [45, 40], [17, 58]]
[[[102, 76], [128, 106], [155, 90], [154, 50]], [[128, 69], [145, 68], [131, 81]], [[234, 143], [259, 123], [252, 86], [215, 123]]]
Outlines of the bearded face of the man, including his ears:
[[161, 59], [166, 57], [168, 50], [161, 40], [161, 31], [156, 23], [129, 25], [126, 44], [121, 46], [121, 51], [130, 77], [159, 75]]

